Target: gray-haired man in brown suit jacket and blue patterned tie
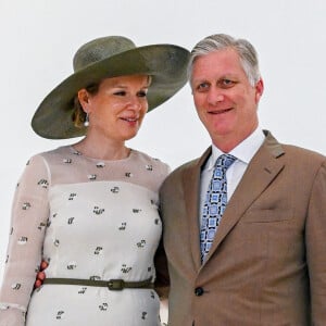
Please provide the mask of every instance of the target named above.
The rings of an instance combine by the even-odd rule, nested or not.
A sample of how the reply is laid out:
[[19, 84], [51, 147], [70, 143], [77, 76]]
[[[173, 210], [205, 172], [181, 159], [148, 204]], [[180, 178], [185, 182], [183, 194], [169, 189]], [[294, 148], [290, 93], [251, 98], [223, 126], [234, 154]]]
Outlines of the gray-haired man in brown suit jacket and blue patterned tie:
[[[213, 35], [191, 55], [212, 146], [161, 189], [168, 325], [324, 326], [326, 158], [261, 129], [264, 85], [248, 41]], [[223, 153], [224, 176], [214, 166]], [[222, 178], [206, 195], [212, 174]]]

